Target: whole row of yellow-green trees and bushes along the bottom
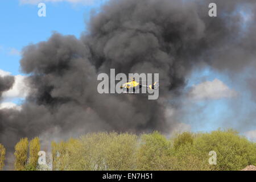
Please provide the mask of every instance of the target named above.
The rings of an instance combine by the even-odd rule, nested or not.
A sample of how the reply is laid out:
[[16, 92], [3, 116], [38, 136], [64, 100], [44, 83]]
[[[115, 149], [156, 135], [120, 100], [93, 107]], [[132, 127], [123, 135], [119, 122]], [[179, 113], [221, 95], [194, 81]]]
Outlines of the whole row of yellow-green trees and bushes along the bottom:
[[[211, 133], [90, 133], [51, 142], [47, 164], [38, 163], [40, 140], [22, 138], [15, 146], [15, 170], [241, 170], [256, 164], [256, 143], [234, 130]], [[216, 152], [216, 164], [209, 152]], [[0, 169], [5, 147], [0, 144]]]

